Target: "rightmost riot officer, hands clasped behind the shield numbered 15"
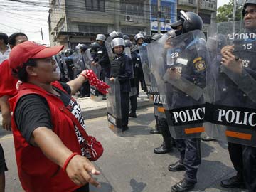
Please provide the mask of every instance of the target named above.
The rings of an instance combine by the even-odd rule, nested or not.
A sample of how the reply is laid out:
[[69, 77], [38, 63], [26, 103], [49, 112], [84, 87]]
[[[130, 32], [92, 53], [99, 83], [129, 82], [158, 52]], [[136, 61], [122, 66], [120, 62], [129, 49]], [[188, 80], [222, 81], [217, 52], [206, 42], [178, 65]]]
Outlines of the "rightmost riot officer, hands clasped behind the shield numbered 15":
[[[247, 0], [242, 9], [242, 16], [245, 23], [246, 33], [255, 33], [256, 30], [256, 1]], [[248, 73], [255, 80], [256, 78], [256, 63], [255, 63], [255, 54], [252, 50], [255, 50], [256, 41], [255, 38], [245, 38], [241, 39], [238, 42], [234, 42], [238, 46], [225, 46], [221, 50], [222, 60], [221, 64], [232, 71], [237, 76], [242, 76], [244, 73]], [[250, 44], [251, 48], [239, 49], [242, 45]], [[239, 50], [238, 50], [239, 49]], [[248, 76], [248, 75], [247, 75]], [[245, 76], [243, 76], [246, 78]], [[228, 83], [228, 77], [225, 80], [224, 86]], [[231, 80], [229, 80], [231, 81]], [[233, 85], [235, 83], [233, 82]], [[223, 86], [223, 85], [222, 85]], [[247, 85], [250, 86], [250, 83], [247, 82]], [[245, 92], [242, 92], [240, 87], [235, 87], [230, 92], [224, 92], [223, 87], [220, 87], [221, 95], [229, 97], [225, 98], [227, 100], [226, 105], [235, 106], [235, 107], [245, 107], [252, 108], [255, 110], [256, 103], [253, 102], [250, 97], [248, 97]], [[252, 146], [245, 146], [242, 144], [228, 143], [228, 151], [230, 154], [230, 159], [233, 163], [237, 174], [231, 178], [221, 181], [221, 186], [225, 188], [242, 188], [244, 185], [246, 188], [251, 191], [256, 191], [256, 148]]]

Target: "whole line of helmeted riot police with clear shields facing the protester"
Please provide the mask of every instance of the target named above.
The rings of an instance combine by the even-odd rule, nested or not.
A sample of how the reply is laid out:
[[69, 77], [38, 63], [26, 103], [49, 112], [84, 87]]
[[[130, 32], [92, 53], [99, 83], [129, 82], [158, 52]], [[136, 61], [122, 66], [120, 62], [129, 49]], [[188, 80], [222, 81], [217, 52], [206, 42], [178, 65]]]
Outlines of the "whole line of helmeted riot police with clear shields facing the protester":
[[[245, 18], [254, 14], [254, 9], [247, 9], [255, 4], [247, 1]], [[210, 138], [229, 142], [230, 147], [238, 144], [242, 150], [249, 150], [248, 154], [245, 150], [235, 157], [230, 152], [230, 158], [242, 158], [247, 166], [256, 166], [256, 160], [243, 156], [256, 153], [256, 26], [252, 25], [253, 22], [245, 21], [213, 23], [206, 39], [201, 18], [181, 11], [179, 20], [172, 24], [173, 30], [152, 36], [149, 43], [144, 43], [141, 33], [134, 36], [132, 43], [121, 32], [113, 31], [107, 38], [99, 34], [96, 40], [100, 45], [90, 52], [92, 55], [83, 57], [90, 60], [87, 68], [110, 85], [107, 119], [117, 134], [129, 129], [129, 116], [136, 117], [139, 84], [153, 98], [154, 132], [160, 132], [164, 140], [154, 152], [164, 154], [176, 146], [181, 158], [168, 169], [186, 171], [184, 179], [171, 191], [188, 191], [195, 186], [203, 132]], [[63, 68], [68, 74], [66, 61]], [[135, 109], [130, 113], [129, 100]], [[256, 173], [246, 166], [242, 170], [245, 174], [241, 176], [237, 170], [238, 174], [223, 180], [221, 186], [245, 185], [249, 191], [255, 191]]]

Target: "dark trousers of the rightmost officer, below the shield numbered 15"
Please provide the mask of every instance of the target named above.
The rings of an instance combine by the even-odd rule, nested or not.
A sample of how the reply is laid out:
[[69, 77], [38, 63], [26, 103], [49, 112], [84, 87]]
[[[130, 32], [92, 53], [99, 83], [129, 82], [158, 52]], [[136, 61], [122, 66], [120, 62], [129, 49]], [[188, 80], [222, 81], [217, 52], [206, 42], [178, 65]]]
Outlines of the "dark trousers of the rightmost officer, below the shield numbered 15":
[[230, 160], [237, 176], [243, 178], [246, 188], [250, 192], [256, 191], [256, 148], [241, 144], [228, 143]]

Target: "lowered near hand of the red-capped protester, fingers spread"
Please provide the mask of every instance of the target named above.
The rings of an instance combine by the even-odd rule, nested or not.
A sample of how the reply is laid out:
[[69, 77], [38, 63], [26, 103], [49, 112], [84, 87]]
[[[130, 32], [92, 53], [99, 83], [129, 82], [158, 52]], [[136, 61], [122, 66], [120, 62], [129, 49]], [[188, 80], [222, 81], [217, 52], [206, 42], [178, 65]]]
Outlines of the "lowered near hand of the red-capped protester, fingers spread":
[[76, 155], [68, 163], [66, 172], [69, 178], [78, 186], [91, 183], [93, 186], [100, 187], [100, 183], [92, 178], [91, 174], [99, 175], [100, 171], [84, 156]]

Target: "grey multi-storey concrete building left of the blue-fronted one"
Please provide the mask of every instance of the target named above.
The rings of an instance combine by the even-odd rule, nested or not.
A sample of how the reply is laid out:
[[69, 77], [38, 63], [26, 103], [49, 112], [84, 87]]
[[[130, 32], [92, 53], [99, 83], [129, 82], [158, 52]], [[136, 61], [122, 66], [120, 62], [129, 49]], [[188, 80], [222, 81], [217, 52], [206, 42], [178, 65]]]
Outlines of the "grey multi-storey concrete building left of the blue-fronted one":
[[144, 0], [49, 0], [50, 45], [90, 44], [98, 33], [150, 33], [149, 3]]

